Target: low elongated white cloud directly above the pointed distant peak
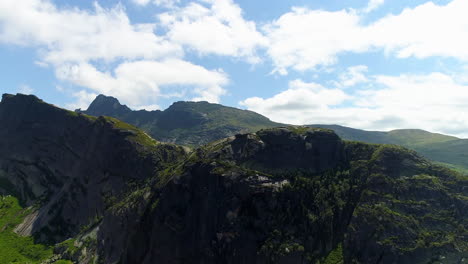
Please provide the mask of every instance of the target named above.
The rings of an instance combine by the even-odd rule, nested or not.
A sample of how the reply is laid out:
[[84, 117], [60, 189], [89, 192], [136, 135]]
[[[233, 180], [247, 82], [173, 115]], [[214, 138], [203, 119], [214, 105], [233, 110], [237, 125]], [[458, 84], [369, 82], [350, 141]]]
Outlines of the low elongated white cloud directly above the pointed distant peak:
[[120, 64], [114, 72], [100, 72], [87, 63], [62, 65], [57, 77], [75, 85], [88, 87], [97, 93], [116, 96], [129, 106], [139, 109], [154, 105], [164, 93], [187, 86], [194, 87], [193, 100], [218, 102], [229, 80], [221, 70], [207, 70], [177, 59], [136, 61]]

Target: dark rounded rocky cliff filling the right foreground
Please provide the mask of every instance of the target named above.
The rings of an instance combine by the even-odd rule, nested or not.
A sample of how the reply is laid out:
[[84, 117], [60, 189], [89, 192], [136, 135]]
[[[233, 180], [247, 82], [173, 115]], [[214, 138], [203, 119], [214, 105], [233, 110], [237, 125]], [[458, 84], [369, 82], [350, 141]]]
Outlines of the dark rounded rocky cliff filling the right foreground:
[[[152, 191], [132, 225], [123, 263], [467, 256], [467, 178], [396, 146], [346, 143], [322, 129], [271, 129], [200, 148], [167, 173], [172, 180]], [[137, 215], [141, 207], [127, 210]]]

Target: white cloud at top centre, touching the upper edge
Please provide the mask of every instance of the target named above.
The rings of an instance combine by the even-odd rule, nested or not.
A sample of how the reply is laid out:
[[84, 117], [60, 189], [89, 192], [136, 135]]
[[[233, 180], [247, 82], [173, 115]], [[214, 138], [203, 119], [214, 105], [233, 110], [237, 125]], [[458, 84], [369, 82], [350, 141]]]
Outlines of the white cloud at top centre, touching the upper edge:
[[201, 0], [158, 16], [168, 38], [199, 54], [216, 54], [257, 63], [256, 50], [267, 45], [255, 22], [246, 21], [232, 0]]

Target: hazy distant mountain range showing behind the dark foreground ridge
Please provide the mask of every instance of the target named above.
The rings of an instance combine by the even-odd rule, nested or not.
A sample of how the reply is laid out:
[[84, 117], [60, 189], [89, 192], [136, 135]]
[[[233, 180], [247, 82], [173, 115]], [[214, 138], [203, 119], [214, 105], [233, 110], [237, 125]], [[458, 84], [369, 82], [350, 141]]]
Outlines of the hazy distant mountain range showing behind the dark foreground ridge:
[[[287, 126], [252, 111], [208, 102], [176, 102], [164, 111], [133, 111], [114, 97], [99, 95], [87, 110], [77, 111], [92, 116], [114, 117], [143, 129], [159, 141], [191, 147], [239, 133]], [[419, 129], [381, 132], [339, 125], [309, 126], [331, 129], [345, 140], [401, 145], [453, 169], [468, 171], [468, 139]]]

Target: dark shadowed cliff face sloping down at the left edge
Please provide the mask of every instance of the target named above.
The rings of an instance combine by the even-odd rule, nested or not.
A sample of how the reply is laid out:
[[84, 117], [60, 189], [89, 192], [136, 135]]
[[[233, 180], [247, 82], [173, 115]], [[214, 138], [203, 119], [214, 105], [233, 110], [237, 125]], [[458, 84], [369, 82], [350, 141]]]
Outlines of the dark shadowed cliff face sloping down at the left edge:
[[34, 96], [4, 95], [0, 123], [0, 190], [37, 207], [17, 232], [41, 241], [59, 242], [95, 224], [130, 184], [155, 176], [183, 153], [120, 121]]

